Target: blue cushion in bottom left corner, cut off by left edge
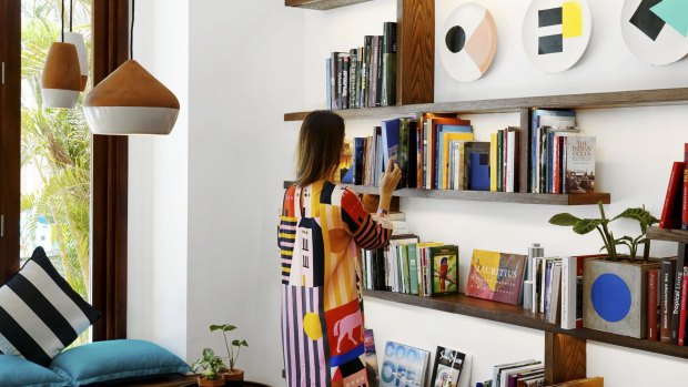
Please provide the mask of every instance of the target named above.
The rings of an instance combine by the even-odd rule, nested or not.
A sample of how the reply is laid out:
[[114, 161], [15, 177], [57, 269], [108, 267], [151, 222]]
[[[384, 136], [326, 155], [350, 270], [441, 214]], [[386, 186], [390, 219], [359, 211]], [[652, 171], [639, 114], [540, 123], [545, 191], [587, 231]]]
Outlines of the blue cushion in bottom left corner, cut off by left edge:
[[2, 387], [64, 387], [67, 381], [48, 368], [12, 355], [0, 355]]

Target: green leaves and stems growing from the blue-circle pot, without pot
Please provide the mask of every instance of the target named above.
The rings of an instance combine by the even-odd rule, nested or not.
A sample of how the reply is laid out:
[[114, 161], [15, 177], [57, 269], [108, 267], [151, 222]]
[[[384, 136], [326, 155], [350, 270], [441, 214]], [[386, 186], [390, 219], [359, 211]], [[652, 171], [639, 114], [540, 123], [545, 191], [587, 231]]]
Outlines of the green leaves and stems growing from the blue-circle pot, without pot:
[[[597, 203], [599, 206], [599, 215], [598, 218], [579, 218], [569, 213], [560, 213], [554, 215], [549, 223], [557, 226], [569, 226], [574, 228], [576, 234], [585, 235], [591, 231], [597, 230], [599, 235], [603, 238], [604, 246], [600, 251], [606, 249], [609, 255], [609, 261], [619, 261], [619, 255], [617, 253], [616, 246], [625, 245], [628, 247], [628, 257], [633, 262], [636, 259], [638, 255], [638, 247], [640, 245], [644, 246], [643, 249], [643, 261], [647, 261], [650, 255], [650, 240], [647, 238], [647, 227], [651, 226], [659, 221], [652, 216], [645, 206], [641, 208], [626, 208], [623, 213], [616, 215], [613, 218], [607, 218], [605, 216], [605, 208], [601, 202]], [[609, 231], [609, 223], [619, 220], [627, 218], [634, 220], [638, 222], [640, 226], [640, 235], [636, 237], [631, 237], [628, 235], [624, 235], [619, 238], [615, 238], [611, 231]]]

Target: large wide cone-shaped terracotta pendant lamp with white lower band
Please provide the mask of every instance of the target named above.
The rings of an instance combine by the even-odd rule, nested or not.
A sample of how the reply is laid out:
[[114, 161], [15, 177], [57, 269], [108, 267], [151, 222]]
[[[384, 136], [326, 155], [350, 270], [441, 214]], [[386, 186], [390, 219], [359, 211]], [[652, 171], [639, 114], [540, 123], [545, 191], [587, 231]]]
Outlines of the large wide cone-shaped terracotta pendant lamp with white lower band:
[[139, 62], [129, 60], [91, 90], [83, 112], [94, 134], [170, 134], [179, 100]]

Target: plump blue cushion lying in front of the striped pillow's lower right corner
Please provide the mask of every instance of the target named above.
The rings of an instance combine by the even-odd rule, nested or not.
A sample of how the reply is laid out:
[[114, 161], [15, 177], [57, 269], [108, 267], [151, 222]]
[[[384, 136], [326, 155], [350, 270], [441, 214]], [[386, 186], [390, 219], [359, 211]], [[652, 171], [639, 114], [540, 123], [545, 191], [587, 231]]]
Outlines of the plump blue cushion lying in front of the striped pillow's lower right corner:
[[171, 352], [145, 340], [108, 340], [85, 344], [58, 355], [50, 369], [71, 386], [191, 371]]

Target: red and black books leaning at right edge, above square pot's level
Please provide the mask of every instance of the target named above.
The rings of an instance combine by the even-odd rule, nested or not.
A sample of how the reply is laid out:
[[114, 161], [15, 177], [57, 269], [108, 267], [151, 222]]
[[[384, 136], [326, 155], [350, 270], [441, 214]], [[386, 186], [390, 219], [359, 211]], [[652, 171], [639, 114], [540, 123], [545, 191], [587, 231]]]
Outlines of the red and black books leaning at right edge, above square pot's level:
[[688, 143], [684, 144], [684, 161], [671, 166], [659, 227], [688, 230]]

